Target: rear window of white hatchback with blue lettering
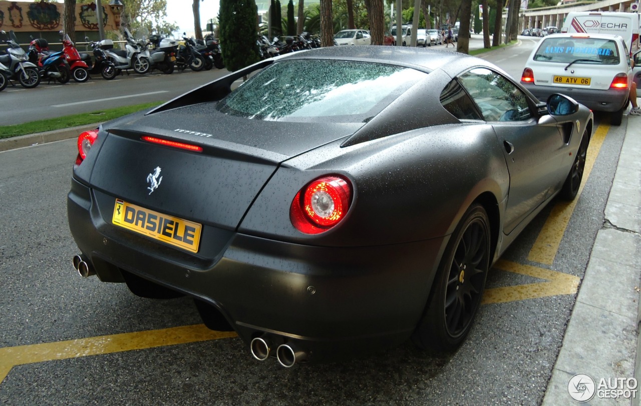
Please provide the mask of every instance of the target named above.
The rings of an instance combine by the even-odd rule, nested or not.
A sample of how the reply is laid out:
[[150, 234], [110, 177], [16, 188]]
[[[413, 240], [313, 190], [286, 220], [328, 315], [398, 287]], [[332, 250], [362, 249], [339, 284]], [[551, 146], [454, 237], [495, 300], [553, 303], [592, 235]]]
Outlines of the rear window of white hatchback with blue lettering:
[[617, 42], [599, 38], [545, 38], [534, 56], [535, 61], [558, 63], [597, 63], [618, 65]]

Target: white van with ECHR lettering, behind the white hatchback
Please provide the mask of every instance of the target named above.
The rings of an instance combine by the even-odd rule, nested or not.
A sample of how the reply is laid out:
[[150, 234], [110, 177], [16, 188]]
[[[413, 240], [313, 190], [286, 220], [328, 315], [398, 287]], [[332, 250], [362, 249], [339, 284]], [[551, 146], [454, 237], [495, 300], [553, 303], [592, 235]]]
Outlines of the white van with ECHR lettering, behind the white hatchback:
[[562, 33], [612, 34], [623, 37], [630, 56], [639, 49], [639, 15], [621, 12], [570, 12]]

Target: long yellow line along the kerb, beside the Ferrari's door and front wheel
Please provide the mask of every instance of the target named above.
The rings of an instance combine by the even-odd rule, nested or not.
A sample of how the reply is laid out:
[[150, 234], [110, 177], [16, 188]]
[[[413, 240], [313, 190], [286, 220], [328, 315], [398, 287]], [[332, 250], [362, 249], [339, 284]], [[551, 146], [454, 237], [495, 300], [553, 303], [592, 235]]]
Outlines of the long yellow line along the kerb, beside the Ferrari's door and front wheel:
[[601, 124], [597, 127], [596, 131], [594, 131], [592, 140], [590, 140], [590, 145], [588, 146], [585, 170], [583, 171], [583, 182], [581, 182], [578, 195], [576, 199], [571, 202], [558, 202], [554, 205], [543, 229], [538, 234], [537, 241], [535, 241], [528, 254], [529, 261], [546, 265], [554, 263], [554, 257], [556, 257], [556, 252], [558, 252], [559, 245], [561, 245], [563, 234], [565, 234], [565, 229], [570, 222], [570, 216], [572, 216], [574, 207], [579, 201], [583, 186], [585, 186], [590, 172], [592, 172], [594, 161], [599, 155], [599, 150], [601, 150], [601, 145], [603, 145], [603, 140], [605, 140], [609, 129], [609, 124]]

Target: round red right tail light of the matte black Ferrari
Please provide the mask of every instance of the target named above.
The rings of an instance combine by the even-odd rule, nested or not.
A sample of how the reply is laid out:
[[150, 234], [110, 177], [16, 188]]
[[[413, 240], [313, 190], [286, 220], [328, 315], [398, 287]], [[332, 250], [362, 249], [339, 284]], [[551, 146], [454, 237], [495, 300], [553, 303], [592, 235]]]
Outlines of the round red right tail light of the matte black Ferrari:
[[347, 214], [351, 194], [351, 184], [341, 177], [315, 179], [294, 197], [290, 207], [292, 225], [305, 234], [318, 234], [334, 227]]

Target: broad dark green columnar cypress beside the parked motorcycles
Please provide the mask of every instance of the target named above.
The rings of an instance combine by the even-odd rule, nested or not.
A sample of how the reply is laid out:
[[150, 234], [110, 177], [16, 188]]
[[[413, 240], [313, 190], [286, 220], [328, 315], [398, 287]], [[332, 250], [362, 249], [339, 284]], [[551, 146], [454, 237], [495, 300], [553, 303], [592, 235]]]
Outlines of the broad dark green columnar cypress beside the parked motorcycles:
[[219, 21], [222, 60], [232, 72], [258, 62], [254, 0], [221, 0]]

